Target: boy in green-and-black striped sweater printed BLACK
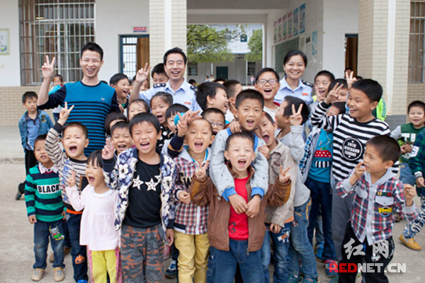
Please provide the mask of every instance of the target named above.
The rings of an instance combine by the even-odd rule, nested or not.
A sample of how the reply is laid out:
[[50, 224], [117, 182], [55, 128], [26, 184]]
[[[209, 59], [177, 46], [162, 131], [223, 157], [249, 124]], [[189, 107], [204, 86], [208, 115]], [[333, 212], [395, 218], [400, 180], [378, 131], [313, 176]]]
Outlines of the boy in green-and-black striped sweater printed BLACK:
[[34, 224], [35, 264], [31, 279], [40, 281], [47, 266], [47, 246], [52, 246], [55, 282], [64, 279], [64, 204], [57, 168], [45, 149], [46, 135], [34, 141], [38, 165], [30, 168], [25, 182], [25, 202], [30, 224]]

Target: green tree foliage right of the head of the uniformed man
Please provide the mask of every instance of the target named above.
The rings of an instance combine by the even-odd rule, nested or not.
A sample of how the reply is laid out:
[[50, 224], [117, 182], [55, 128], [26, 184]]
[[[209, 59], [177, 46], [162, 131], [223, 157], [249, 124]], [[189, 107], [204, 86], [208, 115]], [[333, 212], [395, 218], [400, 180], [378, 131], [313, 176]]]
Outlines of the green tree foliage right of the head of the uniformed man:
[[188, 25], [187, 47], [189, 62], [232, 62], [234, 55], [227, 42], [244, 33], [244, 25], [217, 30], [213, 25]]

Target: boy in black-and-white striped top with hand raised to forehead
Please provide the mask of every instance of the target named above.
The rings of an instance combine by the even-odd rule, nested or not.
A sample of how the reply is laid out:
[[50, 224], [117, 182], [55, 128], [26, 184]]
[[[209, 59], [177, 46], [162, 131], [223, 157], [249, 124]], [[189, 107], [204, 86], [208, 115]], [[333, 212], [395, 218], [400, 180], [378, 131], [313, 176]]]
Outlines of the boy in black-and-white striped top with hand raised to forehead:
[[[348, 86], [351, 83], [348, 82]], [[342, 85], [336, 85], [329, 91], [327, 98], [317, 105], [312, 114], [312, 125], [327, 129], [334, 133], [334, 150], [332, 156], [331, 185], [332, 185], [332, 236], [335, 252], [341, 260], [341, 243], [344, 228], [350, 219], [353, 195], [344, 199], [335, 192], [336, 183], [348, 178], [357, 163], [362, 160], [366, 142], [375, 136], [390, 134], [387, 123], [378, 120], [372, 111], [382, 97], [382, 86], [378, 81], [362, 79], [356, 81], [348, 89], [347, 106], [349, 114], [327, 116], [326, 112], [331, 103], [338, 99]]]

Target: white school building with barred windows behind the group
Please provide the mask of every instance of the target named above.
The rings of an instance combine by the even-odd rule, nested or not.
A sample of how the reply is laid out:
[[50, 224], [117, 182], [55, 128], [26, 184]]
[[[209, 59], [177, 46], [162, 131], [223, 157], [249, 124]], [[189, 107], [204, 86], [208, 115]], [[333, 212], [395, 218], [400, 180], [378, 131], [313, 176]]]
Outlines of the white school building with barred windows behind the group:
[[341, 77], [346, 67], [379, 81], [392, 126], [405, 121], [410, 101], [425, 100], [425, 0], [10, 0], [0, 9], [0, 125], [17, 125], [46, 54], [76, 81], [79, 50], [94, 40], [108, 81], [162, 62], [171, 47], [186, 51], [188, 24], [262, 25], [259, 67], [281, 74], [285, 52], [298, 48], [309, 61], [306, 81], [322, 69]]

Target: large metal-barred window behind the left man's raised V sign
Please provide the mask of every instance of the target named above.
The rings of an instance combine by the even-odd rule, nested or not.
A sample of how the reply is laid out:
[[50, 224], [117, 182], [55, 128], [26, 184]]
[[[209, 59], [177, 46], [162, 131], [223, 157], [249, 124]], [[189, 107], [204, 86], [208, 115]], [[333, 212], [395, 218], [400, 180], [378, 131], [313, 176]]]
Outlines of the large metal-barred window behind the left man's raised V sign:
[[79, 52], [95, 40], [95, 0], [19, 0], [21, 84], [42, 82], [41, 66], [56, 58], [64, 81], [82, 78]]

